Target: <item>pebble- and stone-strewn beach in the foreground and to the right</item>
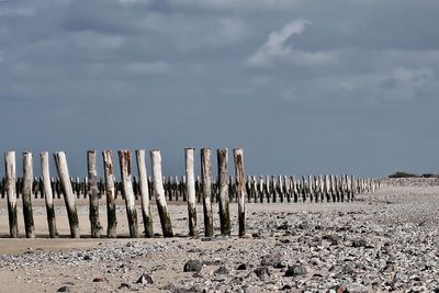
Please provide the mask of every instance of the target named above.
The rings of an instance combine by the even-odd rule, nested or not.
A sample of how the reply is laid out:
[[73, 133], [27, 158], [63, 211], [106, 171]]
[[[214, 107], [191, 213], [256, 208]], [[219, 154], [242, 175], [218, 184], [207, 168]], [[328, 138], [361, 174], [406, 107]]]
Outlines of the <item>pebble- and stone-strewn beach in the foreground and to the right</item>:
[[0, 256], [0, 269], [48, 292], [439, 292], [439, 187], [248, 204], [247, 214], [244, 238], [105, 239]]

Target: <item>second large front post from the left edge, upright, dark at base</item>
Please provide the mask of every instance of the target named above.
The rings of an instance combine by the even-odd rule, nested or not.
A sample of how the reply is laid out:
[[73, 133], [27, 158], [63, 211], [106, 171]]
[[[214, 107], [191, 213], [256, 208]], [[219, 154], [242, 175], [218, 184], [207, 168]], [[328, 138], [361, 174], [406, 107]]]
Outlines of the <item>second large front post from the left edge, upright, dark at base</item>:
[[32, 212], [32, 185], [34, 180], [32, 153], [23, 153], [23, 217], [26, 238], [35, 238]]

